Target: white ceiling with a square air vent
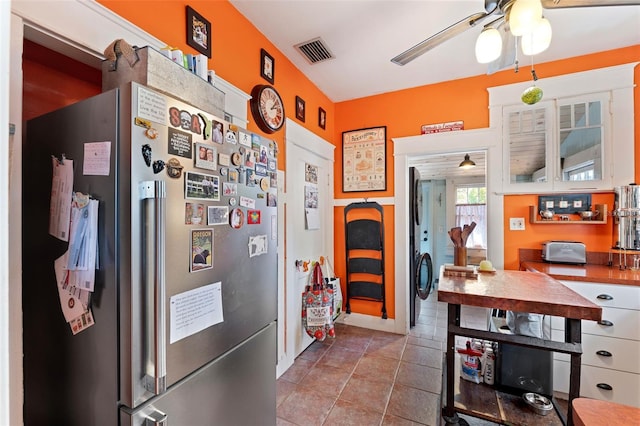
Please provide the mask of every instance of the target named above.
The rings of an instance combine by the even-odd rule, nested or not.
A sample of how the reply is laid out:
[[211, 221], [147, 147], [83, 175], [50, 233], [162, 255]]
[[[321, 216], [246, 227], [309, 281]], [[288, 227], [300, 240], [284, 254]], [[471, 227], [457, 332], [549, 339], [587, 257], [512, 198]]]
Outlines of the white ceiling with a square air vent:
[[[231, 3], [333, 102], [487, 72], [486, 65], [476, 62], [474, 53], [482, 25], [405, 66], [391, 63], [391, 58], [430, 35], [482, 12], [484, 0], [231, 0]], [[553, 39], [549, 49], [535, 57], [536, 63], [640, 43], [640, 6], [554, 9], [545, 10], [544, 15], [551, 22]], [[294, 46], [317, 37], [335, 58], [311, 65]], [[523, 56], [520, 63], [526, 70], [531, 58]], [[276, 62], [276, 87], [277, 65]], [[544, 75], [538, 77], [543, 79]]]

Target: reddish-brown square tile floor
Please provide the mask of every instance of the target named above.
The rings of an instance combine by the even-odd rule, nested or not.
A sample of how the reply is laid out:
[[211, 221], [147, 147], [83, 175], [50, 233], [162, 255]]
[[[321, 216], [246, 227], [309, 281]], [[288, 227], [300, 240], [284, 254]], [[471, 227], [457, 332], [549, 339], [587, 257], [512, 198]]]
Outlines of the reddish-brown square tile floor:
[[[336, 324], [335, 339], [314, 342], [278, 379], [277, 425], [444, 424], [447, 305], [436, 298], [421, 301], [408, 336]], [[461, 322], [486, 329], [486, 310], [463, 306]]]

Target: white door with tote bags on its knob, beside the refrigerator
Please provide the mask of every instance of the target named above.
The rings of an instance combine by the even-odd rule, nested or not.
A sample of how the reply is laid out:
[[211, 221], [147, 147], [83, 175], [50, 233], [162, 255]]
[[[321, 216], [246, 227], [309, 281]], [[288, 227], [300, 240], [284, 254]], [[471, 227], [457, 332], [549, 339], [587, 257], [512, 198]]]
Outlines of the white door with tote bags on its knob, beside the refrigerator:
[[285, 279], [278, 289], [277, 377], [314, 341], [300, 320], [301, 294], [312, 270], [304, 262], [319, 261], [321, 256], [333, 262], [335, 146], [289, 119], [286, 132]]

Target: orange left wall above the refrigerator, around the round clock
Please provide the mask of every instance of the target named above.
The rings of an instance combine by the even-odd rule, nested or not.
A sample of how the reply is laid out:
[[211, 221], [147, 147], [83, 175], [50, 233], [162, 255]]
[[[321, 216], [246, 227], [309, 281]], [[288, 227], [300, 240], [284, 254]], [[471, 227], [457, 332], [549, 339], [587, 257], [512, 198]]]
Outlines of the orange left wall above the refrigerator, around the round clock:
[[[334, 134], [334, 104], [228, 1], [98, 0], [98, 3], [171, 47], [181, 49], [184, 53], [196, 54], [198, 52], [186, 43], [186, 6], [189, 5], [211, 22], [209, 69], [215, 70], [216, 75], [246, 93], [251, 93], [251, 89], [257, 84], [269, 84], [260, 76], [260, 49], [264, 48], [274, 58], [273, 86], [282, 97], [286, 116], [295, 120], [295, 99], [300, 96], [305, 101], [306, 120], [305, 123], [298, 121], [298, 124], [333, 143], [331, 135]], [[325, 129], [318, 126], [319, 107], [327, 112]], [[253, 123], [250, 113], [247, 117], [247, 128], [264, 134]], [[265, 135], [278, 143], [280, 167], [286, 164], [284, 135], [284, 131]]]

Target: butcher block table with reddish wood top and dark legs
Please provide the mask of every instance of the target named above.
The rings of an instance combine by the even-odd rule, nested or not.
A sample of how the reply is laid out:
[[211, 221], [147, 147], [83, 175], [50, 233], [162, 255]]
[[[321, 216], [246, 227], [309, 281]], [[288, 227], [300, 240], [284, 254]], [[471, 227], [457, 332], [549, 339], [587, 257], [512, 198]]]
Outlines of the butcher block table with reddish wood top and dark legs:
[[[580, 358], [582, 356], [580, 320], [599, 321], [602, 308], [585, 299], [561, 282], [546, 274], [530, 271], [479, 272], [477, 278], [449, 276], [444, 267], [440, 271], [438, 301], [446, 302], [447, 353], [446, 400], [443, 418], [447, 424], [457, 424], [455, 408], [455, 336], [510, 343], [571, 356], [569, 406], [566, 422], [573, 425], [571, 402], [580, 393]], [[537, 339], [529, 336], [503, 334], [460, 327], [462, 305], [495, 308], [515, 312], [529, 312], [565, 318], [565, 341]], [[562, 415], [562, 413], [559, 412]], [[497, 419], [500, 420], [500, 419]]]

